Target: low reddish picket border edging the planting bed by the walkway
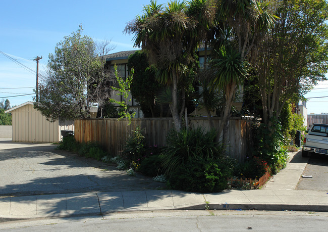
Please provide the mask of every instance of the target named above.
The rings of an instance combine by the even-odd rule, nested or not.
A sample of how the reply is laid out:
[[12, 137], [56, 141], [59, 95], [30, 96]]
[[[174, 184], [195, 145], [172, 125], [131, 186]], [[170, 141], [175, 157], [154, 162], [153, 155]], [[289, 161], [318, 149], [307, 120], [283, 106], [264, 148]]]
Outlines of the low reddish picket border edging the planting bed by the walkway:
[[248, 178], [228, 178], [228, 189], [256, 190], [261, 188], [270, 178], [270, 173], [267, 171], [259, 179]]

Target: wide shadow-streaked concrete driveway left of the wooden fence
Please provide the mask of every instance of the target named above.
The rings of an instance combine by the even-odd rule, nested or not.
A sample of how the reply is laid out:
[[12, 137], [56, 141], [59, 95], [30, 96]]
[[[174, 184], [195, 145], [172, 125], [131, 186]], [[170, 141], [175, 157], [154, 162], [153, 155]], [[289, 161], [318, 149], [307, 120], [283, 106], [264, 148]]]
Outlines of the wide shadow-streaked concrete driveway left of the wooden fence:
[[86, 159], [57, 145], [0, 140], [0, 196], [117, 192], [162, 188], [151, 177]]

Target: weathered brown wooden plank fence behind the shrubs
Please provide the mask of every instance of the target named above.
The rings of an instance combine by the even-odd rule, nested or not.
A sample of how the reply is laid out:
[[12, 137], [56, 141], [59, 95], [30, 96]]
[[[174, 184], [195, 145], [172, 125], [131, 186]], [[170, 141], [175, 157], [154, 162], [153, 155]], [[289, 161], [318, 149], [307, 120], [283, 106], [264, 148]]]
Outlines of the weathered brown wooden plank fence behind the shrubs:
[[[206, 118], [189, 118], [188, 123], [192, 128], [198, 126], [207, 129]], [[220, 123], [220, 118], [213, 118], [215, 128]], [[79, 119], [74, 122], [75, 139], [80, 143], [89, 141], [98, 142], [111, 154], [119, 154], [126, 142], [127, 134], [139, 125], [143, 129], [146, 145], [166, 145], [166, 136], [173, 128], [172, 118], [133, 118], [128, 126], [127, 121], [118, 121], [113, 118], [106, 119]], [[251, 146], [251, 118], [236, 117], [230, 120], [228, 153], [232, 158], [243, 162]], [[128, 131], [128, 132], [127, 132]]]

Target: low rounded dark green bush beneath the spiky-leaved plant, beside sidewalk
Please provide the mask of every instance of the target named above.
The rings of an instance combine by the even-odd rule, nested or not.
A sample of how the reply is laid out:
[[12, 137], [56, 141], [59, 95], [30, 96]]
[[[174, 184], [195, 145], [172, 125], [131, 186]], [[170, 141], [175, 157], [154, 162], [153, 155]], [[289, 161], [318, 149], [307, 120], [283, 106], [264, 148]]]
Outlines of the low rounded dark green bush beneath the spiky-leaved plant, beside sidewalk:
[[219, 192], [227, 188], [232, 169], [223, 160], [197, 160], [185, 163], [168, 178], [168, 188], [188, 192]]

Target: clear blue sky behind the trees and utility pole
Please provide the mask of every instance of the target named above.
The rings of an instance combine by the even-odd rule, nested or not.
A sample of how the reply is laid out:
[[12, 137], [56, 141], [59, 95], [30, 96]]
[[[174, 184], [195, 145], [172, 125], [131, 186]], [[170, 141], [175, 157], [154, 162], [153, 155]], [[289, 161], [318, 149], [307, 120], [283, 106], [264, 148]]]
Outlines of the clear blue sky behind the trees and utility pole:
[[[49, 53], [64, 36], [83, 26], [83, 33], [94, 40], [112, 40], [112, 51], [134, 50], [132, 36], [123, 33], [126, 23], [142, 14], [150, 0], [123, 1], [1, 1], [0, 51], [36, 70], [33, 59], [39, 56], [42, 72]], [[157, 0], [158, 4], [167, 1]], [[0, 54], [0, 101], [4, 97], [33, 94], [36, 75]], [[318, 85], [306, 97], [328, 96], [328, 81]], [[322, 89], [323, 88], [323, 89]], [[11, 106], [32, 101], [32, 96], [10, 97]], [[6, 99], [6, 98], [4, 98]], [[328, 112], [328, 98], [311, 99], [308, 113]]]

